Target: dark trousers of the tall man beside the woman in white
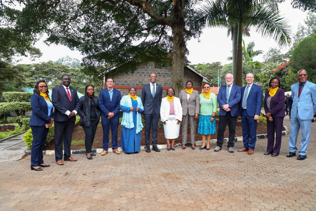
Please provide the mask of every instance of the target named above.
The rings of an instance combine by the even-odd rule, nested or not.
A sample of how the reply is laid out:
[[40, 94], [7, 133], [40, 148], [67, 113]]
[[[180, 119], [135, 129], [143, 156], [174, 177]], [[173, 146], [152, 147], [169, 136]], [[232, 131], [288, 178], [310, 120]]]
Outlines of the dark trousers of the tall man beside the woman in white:
[[145, 145], [149, 146], [150, 128], [153, 139], [153, 146], [157, 145], [157, 127], [160, 114], [144, 114], [145, 117]]

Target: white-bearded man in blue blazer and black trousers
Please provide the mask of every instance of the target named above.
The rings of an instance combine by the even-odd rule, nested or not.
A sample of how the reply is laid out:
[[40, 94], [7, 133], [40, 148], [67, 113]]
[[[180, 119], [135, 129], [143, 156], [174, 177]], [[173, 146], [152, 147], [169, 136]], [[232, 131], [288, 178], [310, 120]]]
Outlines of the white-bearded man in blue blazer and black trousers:
[[214, 151], [218, 152], [222, 149], [224, 142], [224, 132], [228, 123], [229, 137], [227, 148], [229, 152], [234, 152], [234, 138], [237, 116], [240, 115], [240, 98], [241, 88], [233, 84], [234, 77], [231, 73], [225, 76], [226, 85], [222, 86], [217, 95], [219, 107], [219, 123], [217, 131], [217, 146]]

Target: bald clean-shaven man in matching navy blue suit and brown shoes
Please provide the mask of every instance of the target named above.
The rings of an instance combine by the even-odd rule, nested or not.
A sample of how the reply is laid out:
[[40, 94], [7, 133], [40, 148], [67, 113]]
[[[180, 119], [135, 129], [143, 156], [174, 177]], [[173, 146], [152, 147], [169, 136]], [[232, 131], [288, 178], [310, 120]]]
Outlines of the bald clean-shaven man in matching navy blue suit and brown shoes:
[[246, 75], [247, 85], [241, 89], [240, 114], [242, 139], [244, 147], [238, 152], [253, 154], [257, 141], [257, 120], [259, 119], [262, 106], [261, 86], [253, 83], [252, 73]]

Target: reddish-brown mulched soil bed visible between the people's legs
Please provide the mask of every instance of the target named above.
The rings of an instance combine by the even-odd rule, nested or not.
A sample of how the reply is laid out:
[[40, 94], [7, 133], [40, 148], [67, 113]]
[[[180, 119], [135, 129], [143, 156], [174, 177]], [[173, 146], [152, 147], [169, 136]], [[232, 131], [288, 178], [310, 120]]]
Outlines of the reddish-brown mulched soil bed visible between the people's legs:
[[[145, 127], [145, 126], [144, 126]], [[144, 136], [144, 128], [142, 130], [142, 139], [141, 139], [141, 145], [145, 145], [145, 136]], [[218, 130], [218, 121], [216, 121], [216, 131]], [[118, 130], [118, 142], [120, 143], [120, 137], [121, 137], [121, 132], [122, 132], [122, 126], [119, 125], [119, 130]], [[259, 122], [257, 124], [257, 134], [265, 134], [267, 133], [267, 126], [263, 122]], [[242, 136], [242, 129], [241, 129], [241, 122], [237, 122], [236, 124], [236, 134], [235, 137]], [[83, 140], [82, 144], [74, 146], [72, 144], [71, 150], [78, 150], [84, 148], [84, 131], [82, 127], [77, 124], [75, 126], [74, 132], [72, 134], [72, 140]], [[217, 138], [217, 132], [215, 134], [211, 135], [211, 139], [216, 139]], [[225, 133], [224, 133], [224, 138], [228, 138], [228, 126], [226, 127]], [[101, 121], [97, 127], [97, 131], [95, 134], [94, 138], [94, 143], [93, 143], [93, 149], [97, 148], [102, 148], [102, 139], [103, 139], [103, 130], [102, 130], [102, 125]], [[188, 143], [190, 142], [190, 129], [188, 128]], [[197, 133], [197, 128], [196, 128], [196, 136], [195, 140], [202, 140], [202, 135]], [[110, 141], [111, 141], [111, 131], [110, 131]], [[151, 144], [150, 140], [150, 144]], [[180, 127], [180, 134], [179, 137], [176, 139], [176, 143], [182, 143], [182, 131]], [[158, 124], [158, 135], [157, 135], [157, 144], [166, 144], [166, 138], [164, 135], [164, 130], [163, 130], [163, 125]], [[111, 148], [111, 143], [109, 144], [109, 148]], [[48, 145], [45, 146], [45, 150], [54, 150], [54, 142], [50, 142]]]

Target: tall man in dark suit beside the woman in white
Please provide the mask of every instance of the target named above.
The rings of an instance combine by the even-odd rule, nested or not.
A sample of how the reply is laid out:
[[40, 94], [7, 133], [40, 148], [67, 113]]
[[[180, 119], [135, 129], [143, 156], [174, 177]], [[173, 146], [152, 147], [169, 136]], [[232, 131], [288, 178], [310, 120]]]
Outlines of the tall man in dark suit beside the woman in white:
[[144, 106], [143, 118], [145, 119], [145, 151], [150, 152], [150, 127], [153, 140], [153, 150], [160, 152], [157, 147], [157, 127], [160, 116], [160, 105], [162, 99], [162, 87], [156, 84], [157, 74], [151, 73], [149, 76], [149, 84], [143, 86], [142, 102]]

